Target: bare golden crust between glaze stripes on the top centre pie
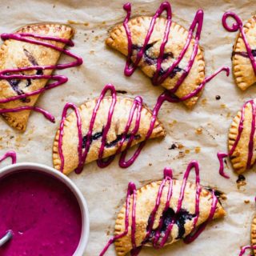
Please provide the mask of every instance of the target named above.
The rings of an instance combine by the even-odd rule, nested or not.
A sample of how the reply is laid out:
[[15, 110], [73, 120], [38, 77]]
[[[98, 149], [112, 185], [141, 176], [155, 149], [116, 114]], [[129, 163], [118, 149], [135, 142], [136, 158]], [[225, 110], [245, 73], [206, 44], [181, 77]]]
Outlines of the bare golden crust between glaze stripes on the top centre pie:
[[[147, 31], [150, 26], [150, 21], [152, 17], [137, 17], [130, 19], [128, 25], [130, 27], [130, 32], [132, 36], [132, 42], [136, 46], [142, 46], [143, 42], [146, 38]], [[151, 35], [150, 42], [154, 43], [154, 46], [147, 50], [147, 54], [150, 54], [151, 57], [158, 57], [159, 48], [162, 43], [162, 38], [164, 31], [166, 29], [166, 18], [157, 18], [156, 24], [154, 27], [154, 32]], [[163, 68], [168, 68], [174, 62], [175, 59], [178, 58], [183, 46], [186, 43], [186, 38], [188, 36], [188, 31], [183, 27], [178, 25], [175, 22], [172, 22], [170, 27], [170, 34], [169, 40], [166, 44], [165, 53], [172, 53], [174, 58], [168, 58], [168, 62], [162, 63]], [[128, 54], [128, 43], [126, 37], [126, 30], [122, 24], [115, 26], [113, 30], [110, 31], [110, 37], [106, 39], [106, 45], [114, 48], [115, 50], [120, 51], [122, 54]], [[194, 46], [194, 39], [191, 41], [190, 46], [182, 59], [182, 62], [178, 65], [180, 68], [184, 69], [188, 63], [188, 60], [191, 56], [192, 49]], [[134, 54], [136, 51], [134, 51]], [[136, 56], [133, 56], [133, 61]], [[139, 63], [140, 68], [142, 69], [143, 73], [149, 76], [150, 78], [153, 77], [154, 71], [156, 70], [155, 65], [148, 65], [145, 60], [141, 60]], [[182, 72], [178, 72], [174, 78], [166, 78], [164, 82], [162, 82], [162, 86], [166, 89], [172, 89], [178, 78], [181, 77]], [[182, 98], [187, 94], [190, 94], [193, 90], [198, 88], [198, 86], [202, 83], [205, 78], [205, 62], [203, 58], [202, 48], [198, 47], [198, 54], [194, 60], [194, 64], [190, 70], [190, 74], [186, 77], [182, 85], [179, 87], [175, 95], [178, 98]], [[200, 93], [199, 93], [200, 94]], [[200, 95], [196, 95], [193, 98], [186, 100], [184, 103], [186, 106], [192, 107], [197, 102], [198, 97]]]

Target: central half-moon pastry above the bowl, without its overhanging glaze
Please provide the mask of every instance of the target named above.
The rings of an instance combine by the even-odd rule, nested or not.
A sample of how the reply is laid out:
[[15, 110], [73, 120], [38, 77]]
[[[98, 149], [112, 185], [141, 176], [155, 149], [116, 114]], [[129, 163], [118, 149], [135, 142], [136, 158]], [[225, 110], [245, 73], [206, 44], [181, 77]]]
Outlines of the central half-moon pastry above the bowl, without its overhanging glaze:
[[[100, 149], [102, 145], [102, 136], [105, 134], [105, 128], [107, 122], [109, 122], [109, 130], [106, 132], [106, 141], [104, 141], [102, 158], [108, 158], [114, 154], [120, 153], [126, 150], [128, 142], [131, 142], [130, 146], [134, 146], [140, 142], [145, 141], [148, 131], [151, 129], [150, 124], [153, 118], [152, 112], [142, 105], [140, 110], [140, 118], [138, 118], [138, 110], [134, 110], [134, 115], [131, 115], [131, 110], [134, 108], [134, 101], [137, 99], [128, 97], [116, 97], [114, 108], [111, 108], [113, 104], [113, 98], [111, 96], [105, 96], [102, 98], [99, 104], [97, 104], [99, 98], [90, 100], [78, 108], [78, 114], [81, 118], [81, 133], [82, 133], [82, 152], [86, 149], [86, 143], [88, 146], [88, 152], [86, 152], [86, 158], [83, 159], [82, 166], [84, 163], [92, 162], [99, 159]], [[98, 110], [95, 107], [98, 106]], [[110, 110], [113, 113], [110, 114]], [[90, 139], [88, 138], [88, 132], [92, 124], [93, 113], [96, 113], [94, 124], [91, 130]], [[111, 116], [111, 117], [110, 117]], [[132, 117], [132, 118], [130, 118]], [[126, 130], [127, 122], [130, 119], [129, 130]], [[62, 166], [62, 160], [59, 154], [59, 130], [54, 139], [53, 148], [53, 162], [54, 168], [62, 170], [64, 174], [70, 174], [71, 171], [76, 170], [79, 166], [79, 138], [78, 138], [78, 118], [76, 113], [73, 111], [64, 121], [63, 126], [63, 137], [61, 142], [63, 159], [65, 159], [64, 165]], [[136, 134], [133, 135], [132, 131], [135, 126], [138, 126]], [[162, 123], [158, 121], [154, 122], [152, 127], [152, 133], [150, 138], [162, 138], [165, 136], [165, 130]], [[123, 138], [125, 136], [125, 138]], [[120, 143], [122, 141], [122, 149]], [[129, 146], [129, 147], [130, 147]], [[81, 162], [80, 162], [81, 163]]]

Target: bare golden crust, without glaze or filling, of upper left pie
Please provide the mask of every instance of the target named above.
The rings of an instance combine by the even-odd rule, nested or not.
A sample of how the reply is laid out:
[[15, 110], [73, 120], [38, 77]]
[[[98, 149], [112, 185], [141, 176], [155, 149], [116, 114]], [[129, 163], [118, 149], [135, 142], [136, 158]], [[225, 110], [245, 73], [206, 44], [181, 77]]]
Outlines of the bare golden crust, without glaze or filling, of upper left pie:
[[[34, 24], [24, 26], [16, 33], [32, 33], [54, 36], [57, 38], [70, 39], [74, 34], [74, 30], [70, 26], [61, 24]], [[49, 40], [41, 40], [42, 42], [49, 42], [54, 46], [61, 48], [65, 47], [62, 42], [54, 42]], [[39, 66], [55, 65], [58, 62], [58, 58], [61, 53], [58, 50], [51, 49], [46, 46], [39, 46], [29, 42], [21, 42], [17, 40], [6, 40], [0, 48], [0, 70], [6, 70], [8, 68], [19, 68], [26, 66], [33, 66], [26, 56], [25, 50], [32, 54]], [[44, 70], [44, 74], [50, 75], [53, 70]], [[35, 74], [35, 71], [26, 71], [24, 74]], [[19, 87], [25, 92], [31, 92], [38, 90], [46, 86], [47, 79], [31, 79], [31, 85], [26, 87], [26, 80], [23, 80]], [[17, 93], [11, 88], [9, 82], [6, 80], [0, 80], [0, 98], [10, 98], [16, 96]], [[14, 102], [7, 102], [0, 104], [0, 108], [16, 108], [19, 106], [34, 106], [37, 102], [39, 94], [30, 96], [30, 102], [22, 102], [16, 100]], [[24, 110], [17, 113], [2, 114], [3, 118], [10, 126], [18, 130], [26, 130], [26, 124], [30, 116], [30, 110]]]

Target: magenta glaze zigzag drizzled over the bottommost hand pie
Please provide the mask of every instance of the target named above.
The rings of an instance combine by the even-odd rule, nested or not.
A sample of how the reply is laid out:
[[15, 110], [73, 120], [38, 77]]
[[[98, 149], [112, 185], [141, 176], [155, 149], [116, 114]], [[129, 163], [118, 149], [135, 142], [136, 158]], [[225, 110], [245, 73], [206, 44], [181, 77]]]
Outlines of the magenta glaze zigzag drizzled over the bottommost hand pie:
[[[178, 214], [178, 212], [182, 209], [182, 202], [183, 202], [184, 193], [185, 193], [185, 190], [186, 190], [187, 179], [188, 179], [188, 177], [190, 175], [190, 172], [193, 168], [194, 168], [195, 174], [196, 174], [196, 186], [197, 186], [196, 196], [195, 196], [195, 214], [196, 214], [196, 217], [194, 217], [194, 230], [192, 230], [191, 235], [188, 235], [186, 238], [184, 238], [184, 242], [186, 242], [186, 243], [193, 242], [194, 239], [198, 238], [199, 234], [201, 234], [202, 231], [206, 228], [207, 223], [210, 222], [210, 220], [214, 217], [214, 213], [215, 213], [217, 203], [218, 203], [218, 198], [214, 194], [214, 190], [213, 190], [213, 192], [212, 192], [213, 201], [212, 201], [212, 204], [211, 204], [209, 217], [206, 220], [206, 222], [204, 222], [201, 226], [196, 227], [196, 224], [198, 222], [199, 212], [200, 212], [199, 202], [200, 202], [200, 194], [201, 194], [202, 187], [200, 185], [198, 162], [192, 161], [187, 166], [186, 173], [184, 174], [184, 178], [183, 178], [183, 182], [182, 182], [182, 188], [181, 188], [180, 196], [179, 196], [179, 199], [178, 199], [178, 206], [177, 206], [176, 214]], [[165, 170], [164, 170], [164, 179], [162, 180], [162, 183], [159, 186], [158, 196], [156, 198], [154, 209], [152, 210], [152, 212], [150, 214], [151, 218], [150, 218], [150, 222], [148, 223], [148, 226], [146, 228], [146, 230], [147, 230], [146, 237], [143, 239], [142, 246], [147, 241], [147, 238], [149, 238], [150, 233], [153, 229], [156, 213], [158, 212], [158, 208], [160, 206], [160, 201], [162, 199], [162, 191], [163, 191], [165, 186], [168, 186], [168, 193], [167, 193], [167, 197], [166, 197], [166, 206], [165, 206], [162, 213], [164, 213], [170, 207], [170, 200], [171, 200], [172, 193], [173, 193], [173, 175], [172, 175], [172, 170], [170, 168], [165, 168]], [[131, 197], [133, 198], [132, 199], [132, 202], [133, 202], [132, 204], [130, 202]], [[130, 217], [129, 216], [130, 206], [132, 207], [131, 243], [133, 245], [133, 250], [131, 250], [130, 254], [132, 256], [137, 256], [139, 254], [140, 250], [142, 249], [142, 246], [136, 246], [136, 243], [135, 243], [136, 186], [134, 185], [134, 183], [130, 182], [129, 186], [128, 186], [128, 190], [127, 190], [127, 195], [126, 195], [126, 219], [125, 219], [125, 227], [126, 228], [125, 228], [125, 231], [122, 234], [119, 234], [119, 235], [115, 236], [114, 238], [111, 238], [110, 241], [106, 244], [105, 248], [102, 250], [101, 254], [99, 254], [99, 256], [103, 256], [106, 253], [106, 251], [108, 250], [108, 248], [110, 247], [110, 245], [112, 245], [119, 238], [122, 238], [122, 237], [126, 236], [126, 234], [128, 233], [129, 217]], [[158, 228], [155, 231], [154, 238], [152, 238], [153, 246], [154, 246], [155, 249], [162, 248], [163, 246], [165, 246], [165, 244], [167, 242], [167, 239], [170, 235], [170, 232], [174, 227], [174, 220], [167, 227], [166, 233], [164, 234], [164, 236], [162, 237], [161, 242], [160, 242], [160, 238], [161, 238], [160, 237], [160, 230], [162, 228], [162, 224], [163, 224], [163, 219], [161, 218], [160, 222], [159, 222], [159, 225], [158, 225]]]

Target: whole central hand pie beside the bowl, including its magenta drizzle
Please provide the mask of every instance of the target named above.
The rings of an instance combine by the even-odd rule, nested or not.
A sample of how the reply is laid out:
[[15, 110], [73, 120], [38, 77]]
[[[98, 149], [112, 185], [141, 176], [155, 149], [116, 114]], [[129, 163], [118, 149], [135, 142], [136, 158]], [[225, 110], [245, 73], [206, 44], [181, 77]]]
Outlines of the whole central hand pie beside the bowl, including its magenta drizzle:
[[[112, 90], [112, 97], [106, 91]], [[66, 110], [74, 111], [66, 117]], [[119, 165], [127, 167], [141, 148], [126, 161], [126, 150], [148, 138], [162, 138], [165, 130], [158, 118], [142, 103], [142, 98], [115, 95], [114, 86], [106, 86], [99, 98], [79, 108], [67, 103], [53, 148], [54, 168], [64, 174], [81, 172], [85, 163], [98, 160], [100, 167], [121, 153]], [[105, 158], [108, 158], [104, 161]]]

